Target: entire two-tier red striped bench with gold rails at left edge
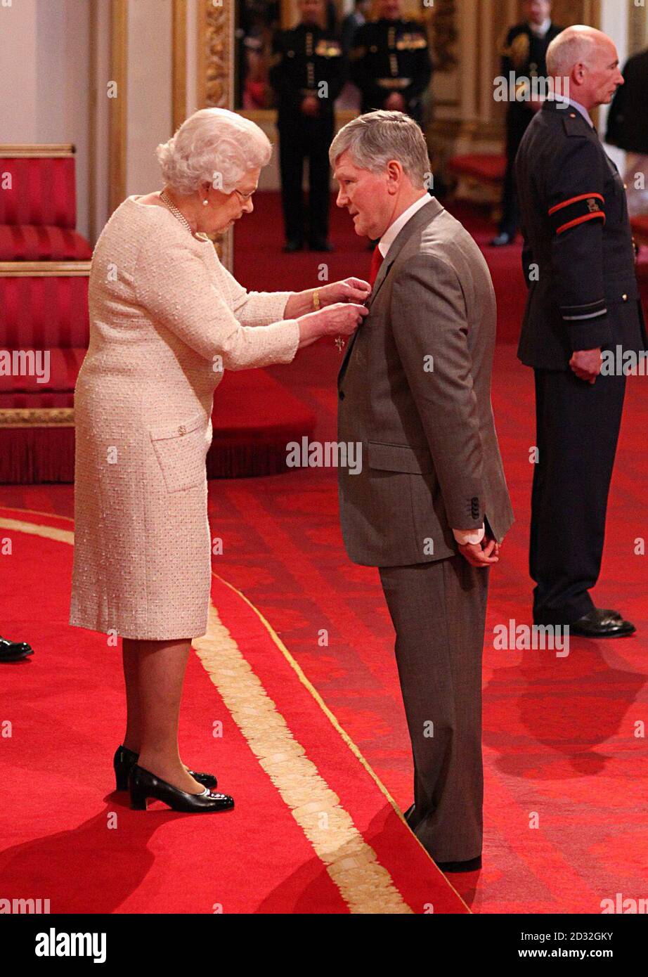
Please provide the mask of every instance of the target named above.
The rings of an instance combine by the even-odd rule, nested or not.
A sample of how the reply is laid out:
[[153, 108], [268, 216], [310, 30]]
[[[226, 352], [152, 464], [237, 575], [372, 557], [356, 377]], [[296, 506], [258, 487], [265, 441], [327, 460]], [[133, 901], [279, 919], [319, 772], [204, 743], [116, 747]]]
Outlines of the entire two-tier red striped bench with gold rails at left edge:
[[74, 147], [0, 146], [0, 483], [74, 477], [92, 257], [75, 224]]

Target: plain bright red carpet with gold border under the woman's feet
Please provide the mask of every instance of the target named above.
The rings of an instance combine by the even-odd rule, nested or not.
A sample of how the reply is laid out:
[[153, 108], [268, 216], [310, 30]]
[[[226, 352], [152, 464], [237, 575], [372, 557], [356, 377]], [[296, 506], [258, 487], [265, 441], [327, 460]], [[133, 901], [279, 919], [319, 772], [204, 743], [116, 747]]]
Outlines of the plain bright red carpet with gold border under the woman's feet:
[[212, 599], [231, 634], [217, 624], [195, 642], [181, 740], [237, 808], [188, 830], [162, 804], [132, 812], [111, 793], [120, 655], [65, 623], [70, 527], [0, 509], [14, 613], [38, 650], [3, 672], [3, 897], [48, 899], [52, 913], [467, 913], [279, 640], [220, 578]]

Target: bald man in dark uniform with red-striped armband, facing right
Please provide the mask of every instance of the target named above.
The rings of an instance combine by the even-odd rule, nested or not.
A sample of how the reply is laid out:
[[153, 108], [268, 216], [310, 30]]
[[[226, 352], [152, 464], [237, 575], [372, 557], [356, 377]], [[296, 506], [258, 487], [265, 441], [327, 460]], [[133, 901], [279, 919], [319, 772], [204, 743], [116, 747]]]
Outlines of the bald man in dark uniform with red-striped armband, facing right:
[[[592, 27], [563, 31], [547, 65], [554, 79], [567, 79], [569, 99], [544, 103], [515, 166], [530, 288], [518, 356], [536, 374], [534, 620], [619, 637], [634, 626], [595, 608], [589, 590], [600, 572], [626, 389], [618, 356], [639, 363], [647, 347], [626, 192], [589, 111], [609, 104], [623, 75], [614, 43]], [[602, 369], [610, 353], [616, 364]]]

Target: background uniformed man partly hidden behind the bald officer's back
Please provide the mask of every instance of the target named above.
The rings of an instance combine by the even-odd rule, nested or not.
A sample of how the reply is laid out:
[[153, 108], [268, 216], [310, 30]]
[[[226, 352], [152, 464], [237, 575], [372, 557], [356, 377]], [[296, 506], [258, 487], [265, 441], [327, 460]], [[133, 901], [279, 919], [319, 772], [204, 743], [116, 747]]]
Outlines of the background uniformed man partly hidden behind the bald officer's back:
[[[504, 78], [515, 75], [514, 91], [509, 92], [506, 110], [506, 174], [501, 197], [501, 220], [494, 247], [515, 240], [518, 227], [518, 204], [515, 193], [514, 164], [522, 137], [540, 108], [531, 100], [534, 78], [546, 76], [546, 49], [562, 27], [551, 22], [550, 0], [525, 0], [527, 20], [511, 27], [501, 52], [501, 72]], [[521, 101], [516, 101], [520, 97]]]

